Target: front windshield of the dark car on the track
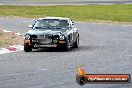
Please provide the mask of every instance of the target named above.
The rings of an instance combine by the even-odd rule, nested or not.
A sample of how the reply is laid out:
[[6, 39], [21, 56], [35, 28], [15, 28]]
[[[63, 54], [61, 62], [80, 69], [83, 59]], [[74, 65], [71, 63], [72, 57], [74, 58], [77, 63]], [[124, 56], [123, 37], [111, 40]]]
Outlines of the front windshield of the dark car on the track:
[[43, 19], [37, 20], [34, 24], [35, 29], [67, 29], [67, 20], [59, 19]]

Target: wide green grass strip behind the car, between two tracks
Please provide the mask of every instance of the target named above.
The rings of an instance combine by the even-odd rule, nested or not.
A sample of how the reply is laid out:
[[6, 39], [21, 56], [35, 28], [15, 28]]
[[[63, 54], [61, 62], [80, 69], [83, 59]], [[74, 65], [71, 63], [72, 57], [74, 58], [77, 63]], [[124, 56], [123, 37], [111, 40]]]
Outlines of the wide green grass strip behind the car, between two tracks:
[[69, 17], [76, 21], [110, 20], [132, 22], [132, 5], [0, 6], [0, 16], [39, 18]]

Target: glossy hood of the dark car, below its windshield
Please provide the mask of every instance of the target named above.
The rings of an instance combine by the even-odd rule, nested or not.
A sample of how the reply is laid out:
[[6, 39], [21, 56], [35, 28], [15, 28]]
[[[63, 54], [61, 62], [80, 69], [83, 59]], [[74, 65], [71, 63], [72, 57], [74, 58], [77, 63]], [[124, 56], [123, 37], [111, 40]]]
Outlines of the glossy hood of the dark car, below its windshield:
[[42, 30], [42, 29], [31, 29], [26, 34], [30, 35], [60, 35], [65, 34], [68, 30]]

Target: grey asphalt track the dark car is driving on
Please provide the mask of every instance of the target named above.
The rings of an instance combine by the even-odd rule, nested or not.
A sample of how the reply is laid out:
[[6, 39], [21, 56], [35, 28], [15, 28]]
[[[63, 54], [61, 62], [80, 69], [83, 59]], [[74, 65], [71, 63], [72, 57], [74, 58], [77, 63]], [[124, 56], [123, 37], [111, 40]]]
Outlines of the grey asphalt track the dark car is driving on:
[[[25, 33], [34, 19], [0, 17], [3, 29]], [[132, 88], [130, 84], [76, 83], [77, 67], [88, 73], [132, 75], [132, 25], [76, 22], [80, 47], [0, 55], [0, 88]], [[130, 86], [130, 87], [129, 87]]]

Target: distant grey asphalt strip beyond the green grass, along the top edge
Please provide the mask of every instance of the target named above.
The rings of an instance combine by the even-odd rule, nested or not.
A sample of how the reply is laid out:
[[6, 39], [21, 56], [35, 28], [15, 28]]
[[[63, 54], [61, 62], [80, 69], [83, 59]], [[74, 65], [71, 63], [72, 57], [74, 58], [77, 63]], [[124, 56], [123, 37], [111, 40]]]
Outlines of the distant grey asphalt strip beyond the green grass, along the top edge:
[[78, 0], [78, 1], [23, 1], [23, 0], [0, 0], [0, 5], [109, 5], [109, 4], [132, 4], [131, 0]]

